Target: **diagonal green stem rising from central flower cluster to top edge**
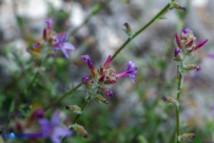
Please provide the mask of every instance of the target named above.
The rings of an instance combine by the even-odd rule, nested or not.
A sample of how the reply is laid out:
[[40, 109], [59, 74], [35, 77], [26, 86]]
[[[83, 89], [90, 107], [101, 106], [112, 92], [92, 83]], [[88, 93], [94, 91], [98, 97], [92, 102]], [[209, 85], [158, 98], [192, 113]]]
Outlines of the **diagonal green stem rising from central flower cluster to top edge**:
[[140, 28], [138, 31], [136, 31], [133, 35], [131, 35], [121, 46], [120, 48], [114, 53], [111, 60], [113, 60], [121, 50], [123, 50], [129, 42], [131, 42], [135, 37], [137, 37], [140, 33], [142, 33], [145, 29], [147, 29], [152, 23], [154, 23], [158, 18], [163, 16], [170, 8], [171, 8], [171, 2], [170, 1], [160, 12], [158, 12], [145, 26]]

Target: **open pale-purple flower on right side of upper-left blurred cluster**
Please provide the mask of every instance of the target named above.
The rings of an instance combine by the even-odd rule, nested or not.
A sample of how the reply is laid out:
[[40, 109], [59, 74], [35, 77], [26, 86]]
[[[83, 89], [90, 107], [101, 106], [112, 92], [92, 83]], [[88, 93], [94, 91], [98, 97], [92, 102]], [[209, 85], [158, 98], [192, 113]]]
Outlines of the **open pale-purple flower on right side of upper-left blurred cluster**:
[[66, 58], [69, 57], [67, 50], [73, 51], [75, 49], [72, 44], [66, 42], [67, 39], [68, 35], [66, 33], [59, 33], [56, 35], [56, 44], [53, 46], [55, 50], [61, 50]]

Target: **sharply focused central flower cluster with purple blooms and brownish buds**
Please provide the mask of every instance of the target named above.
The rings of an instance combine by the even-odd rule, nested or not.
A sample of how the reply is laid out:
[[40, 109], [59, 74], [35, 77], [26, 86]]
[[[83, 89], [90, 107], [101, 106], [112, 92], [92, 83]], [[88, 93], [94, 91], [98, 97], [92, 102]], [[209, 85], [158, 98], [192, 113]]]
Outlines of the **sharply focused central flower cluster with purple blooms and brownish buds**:
[[[125, 70], [121, 73], [117, 73], [116, 70], [109, 66], [111, 61], [111, 56], [108, 56], [106, 62], [103, 66], [95, 69], [94, 64], [89, 57], [89, 55], [83, 55], [82, 60], [88, 64], [91, 71], [90, 75], [85, 75], [82, 82], [88, 88], [98, 88], [98, 90], [104, 91], [105, 95], [111, 96], [113, 94], [112, 90], [109, 90], [105, 85], [114, 84], [117, 82], [118, 78], [130, 77], [131, 81], [135, 82], [135, 75], [137, 73], [137, 67], [133, 61], [129, 61]], [[99, 99], [102, 99], [99, 96]]]

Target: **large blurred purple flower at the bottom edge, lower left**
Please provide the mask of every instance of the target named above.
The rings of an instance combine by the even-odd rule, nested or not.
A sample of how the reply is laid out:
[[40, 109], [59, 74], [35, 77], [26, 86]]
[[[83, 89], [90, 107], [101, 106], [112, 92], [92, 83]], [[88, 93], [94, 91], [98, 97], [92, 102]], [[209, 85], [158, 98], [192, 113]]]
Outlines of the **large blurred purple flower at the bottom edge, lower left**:
[[53, 143], [60, 143], [60, 138], [71, 135], [71, 131], [66, 127], [59, 126], [60, 112], [56, 111], [49, 122], [43, 118], [39, 120], [41, 133], [44, 137], [50, 137]]

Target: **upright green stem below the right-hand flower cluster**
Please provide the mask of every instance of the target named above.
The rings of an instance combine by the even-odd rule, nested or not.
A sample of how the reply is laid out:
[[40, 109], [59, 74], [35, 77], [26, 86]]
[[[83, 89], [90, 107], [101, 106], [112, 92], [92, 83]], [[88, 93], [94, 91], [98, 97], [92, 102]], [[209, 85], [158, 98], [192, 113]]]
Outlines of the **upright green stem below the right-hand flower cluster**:
[[[182, 61], [181, 61], [182, 62]], [[180, 143], [180, 96], [182, 90], [183, 74], [182, 63], [177, 65], [177, 105], [176, 105], [176, 143]]]

